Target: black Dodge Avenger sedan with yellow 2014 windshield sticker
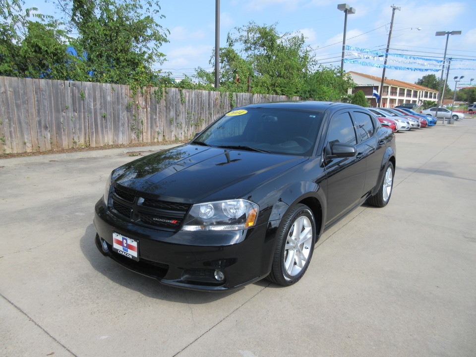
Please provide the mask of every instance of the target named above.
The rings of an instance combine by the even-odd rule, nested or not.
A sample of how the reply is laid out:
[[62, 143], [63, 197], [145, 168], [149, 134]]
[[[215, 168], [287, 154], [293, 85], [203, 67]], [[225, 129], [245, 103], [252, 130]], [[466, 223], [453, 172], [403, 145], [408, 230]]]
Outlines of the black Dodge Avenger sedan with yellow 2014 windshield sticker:
[[225, 291], [305, 273], [322, 232], [392, 193], [395, 138], [362, 107], [237, 108], [192, 141], [114, 170], [96, 245], [161, 283]]

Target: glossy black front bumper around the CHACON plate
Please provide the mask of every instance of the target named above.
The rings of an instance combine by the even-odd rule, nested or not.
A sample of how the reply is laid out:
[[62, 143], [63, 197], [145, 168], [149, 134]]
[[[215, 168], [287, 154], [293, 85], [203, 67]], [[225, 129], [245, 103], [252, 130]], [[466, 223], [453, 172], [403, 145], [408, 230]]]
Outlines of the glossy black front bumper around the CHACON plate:
[[[166, 285], [225, 291], [262, 279], [271, 269], [276, 229], [268, 229], [268, 224], [243, 231], [163, 231], [119, 219], [101, 199], [95, 207], [94, 226], [102, 254]], [[139, 261], [113, 251], [113, 232], [138, 241]], [[224, 273], [224, 280], [215, 278], [216, 270]]]

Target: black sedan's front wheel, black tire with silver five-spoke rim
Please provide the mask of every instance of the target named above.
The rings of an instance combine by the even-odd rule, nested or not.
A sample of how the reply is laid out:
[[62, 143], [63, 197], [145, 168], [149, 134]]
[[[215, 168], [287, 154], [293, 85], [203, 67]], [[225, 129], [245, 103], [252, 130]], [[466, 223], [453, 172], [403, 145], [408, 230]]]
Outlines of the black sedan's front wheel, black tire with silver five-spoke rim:
[[290, 286], [302, 278], [314, 251], [316, 223], [312, 211], [306, 205], [297, 204], [283, 217], [276, 234], [277, 243], [268, 280]]

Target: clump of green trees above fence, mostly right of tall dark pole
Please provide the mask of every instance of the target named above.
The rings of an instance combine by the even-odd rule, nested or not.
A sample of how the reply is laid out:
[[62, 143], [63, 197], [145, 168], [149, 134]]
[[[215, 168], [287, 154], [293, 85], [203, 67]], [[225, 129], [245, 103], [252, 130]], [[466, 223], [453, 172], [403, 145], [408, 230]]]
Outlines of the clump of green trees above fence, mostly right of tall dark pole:
[[[302, 35], [279, 34], [275, 25], [254, 22], [228, 34], [226, 48], [220, 49], [220, 90], [300, 96], [303, 99], [340, 100], [349, 87], [349, 76], [337, 68], [320, 66]], [[213, 57], [212, 57], [213, 59]], [[214, 73], [202, 68], [196, 78], [210, 86]]]

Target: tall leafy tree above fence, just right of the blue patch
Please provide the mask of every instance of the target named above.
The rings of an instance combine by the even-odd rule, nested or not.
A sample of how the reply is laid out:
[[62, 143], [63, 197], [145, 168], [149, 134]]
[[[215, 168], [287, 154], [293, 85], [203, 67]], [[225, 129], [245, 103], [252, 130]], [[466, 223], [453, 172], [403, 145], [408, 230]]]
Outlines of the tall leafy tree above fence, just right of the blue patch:
[[[69, 2], [71, 1], [71, 2]], [[169, 31], [156, 22], [158, 1], [149, 0], [60, 0], [69, 9], [69, 24], [79, 34], [78, 54], [95, 82], [156, 84], [152, 70], [162, 63], [160, 52]]]

